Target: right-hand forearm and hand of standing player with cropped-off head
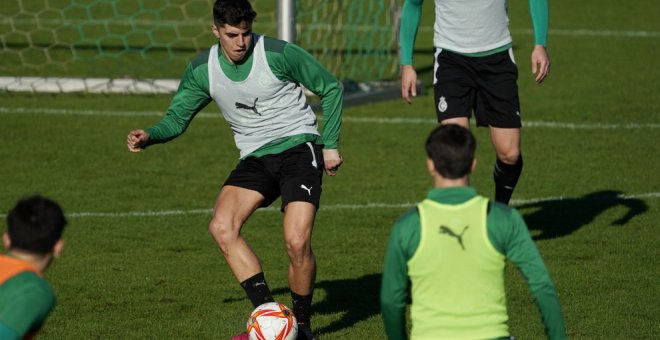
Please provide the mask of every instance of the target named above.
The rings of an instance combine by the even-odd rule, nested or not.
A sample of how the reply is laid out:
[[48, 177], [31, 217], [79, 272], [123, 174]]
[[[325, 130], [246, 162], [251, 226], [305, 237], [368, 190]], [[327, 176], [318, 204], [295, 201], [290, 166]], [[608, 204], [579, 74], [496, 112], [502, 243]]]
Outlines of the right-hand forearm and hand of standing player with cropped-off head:
[[542, 83], [550, 72], [550, 58], [546, 51], [548, 40], [548, 1], [529, 0], [529, 11], [534, 26], [534, 50], [532, 73], [537, 83]]

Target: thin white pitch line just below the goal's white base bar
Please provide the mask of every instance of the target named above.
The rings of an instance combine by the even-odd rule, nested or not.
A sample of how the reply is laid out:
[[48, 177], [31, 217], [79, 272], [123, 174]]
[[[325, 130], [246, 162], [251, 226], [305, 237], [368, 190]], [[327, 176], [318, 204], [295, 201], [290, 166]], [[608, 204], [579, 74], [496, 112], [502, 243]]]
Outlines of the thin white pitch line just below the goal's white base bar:
[[[158, 111], [102, 111], [102, 110], [70, 110], [70, 109], [48, 109], [48, 108], [28, 108], [28, 107], [2, 107], [0, 114], [47, 114], [47, 115], [71, 115], [71, 116], [108, 116], [108, 117], [161, 117], [162, 112]], [[220, 119], [220, 113], [199, 113], [199, 118]], [[323, 117], [318, 117], [320, 120]], [[411, 118], [411, 117], [350, 117], [344, 116], [343, 121], [347, 123], [376, 123], [376, 124], [437, 124], [435, 119]], [[626, 124], [604, 124], [604, 123], [562, 123], [549, 121], [525, 121], [523, 127], [526, 128], [561, 128], [575, 130], [619, 130], [619, 129], [657, 129], [660, 123], [626, 123]]]

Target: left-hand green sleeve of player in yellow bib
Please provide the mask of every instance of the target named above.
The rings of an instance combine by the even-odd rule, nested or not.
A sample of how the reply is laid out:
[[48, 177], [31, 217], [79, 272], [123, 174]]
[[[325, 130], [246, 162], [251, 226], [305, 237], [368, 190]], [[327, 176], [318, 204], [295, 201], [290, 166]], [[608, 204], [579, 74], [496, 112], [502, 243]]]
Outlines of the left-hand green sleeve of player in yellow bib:
[[408, 259], [419, 245], [419, 229], [419, 213], [417, 209], [410, 210], [394, 224], [387, 244], [380, 308], [389, 339], [407, 339], [406, 304], [410, 300]]

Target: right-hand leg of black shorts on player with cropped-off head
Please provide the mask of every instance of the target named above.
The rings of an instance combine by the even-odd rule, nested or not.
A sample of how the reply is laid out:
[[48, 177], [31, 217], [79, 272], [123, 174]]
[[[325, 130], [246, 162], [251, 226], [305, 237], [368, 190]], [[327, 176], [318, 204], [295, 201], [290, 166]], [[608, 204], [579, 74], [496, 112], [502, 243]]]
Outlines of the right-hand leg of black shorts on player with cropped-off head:
[[475, 115], [478, 126], [520, 128], [518, 67], [510, 51], [475, 59], [478, 90]]

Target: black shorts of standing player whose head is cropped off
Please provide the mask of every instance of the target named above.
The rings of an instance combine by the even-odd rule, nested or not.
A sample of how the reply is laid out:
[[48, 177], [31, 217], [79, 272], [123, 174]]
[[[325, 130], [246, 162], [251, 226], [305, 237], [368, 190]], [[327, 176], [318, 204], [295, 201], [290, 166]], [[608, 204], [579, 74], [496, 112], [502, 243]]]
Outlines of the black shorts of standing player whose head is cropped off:
[[485, 57], [435, 50], [433, 89], [438, 122], [467, 117], [477, 126], [520, 128], [518, 67], [511, 49]]

